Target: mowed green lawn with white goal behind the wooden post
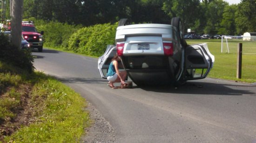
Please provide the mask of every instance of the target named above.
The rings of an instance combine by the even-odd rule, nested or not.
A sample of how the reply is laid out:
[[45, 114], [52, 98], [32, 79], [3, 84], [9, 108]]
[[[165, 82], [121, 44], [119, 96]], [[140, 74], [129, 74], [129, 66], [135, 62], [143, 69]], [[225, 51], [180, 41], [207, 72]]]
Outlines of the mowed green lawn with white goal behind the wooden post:
[[[243, 41], [229, 39], [227, 48], [226, 40], [209, 39], [209, 40], [186, 40], [188, 44], [207, 43], [208, 48], [215, 56], [215, 62], [208, 77], [220, 78], [233, 81], [256, 82], [256, 41]], [[243, 44], [242, 56], [242, 79], [236, 78], [237, 66], [237, 44]], [[221, 53], [222, 46], [222, 53]]]

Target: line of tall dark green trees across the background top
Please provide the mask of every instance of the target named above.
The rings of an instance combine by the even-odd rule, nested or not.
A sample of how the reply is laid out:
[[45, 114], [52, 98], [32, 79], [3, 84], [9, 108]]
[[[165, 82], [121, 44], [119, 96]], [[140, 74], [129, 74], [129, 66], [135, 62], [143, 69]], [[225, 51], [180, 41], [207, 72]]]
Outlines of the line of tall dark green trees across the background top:
[[[8, 1], [6, 17], [8, 17]], [[70, 25], [115, 23], [170, 24], [180, 17], [184, 30], [198, 34], [240, 35], [256, 31], [256, 0], [229, 5], [224, 0], [24, 0], [23, 19], [42, 19]]]

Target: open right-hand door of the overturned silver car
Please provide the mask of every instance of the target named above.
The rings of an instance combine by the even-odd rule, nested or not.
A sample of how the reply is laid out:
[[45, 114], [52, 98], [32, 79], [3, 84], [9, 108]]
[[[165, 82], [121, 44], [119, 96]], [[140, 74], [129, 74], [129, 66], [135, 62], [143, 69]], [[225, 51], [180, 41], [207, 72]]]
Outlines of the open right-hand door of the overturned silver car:
[[207, 44], [189, 45], [185, 49], [185, 70], [183, 80], [205, 78], [214, 63], [214, 56], [209, 52]]

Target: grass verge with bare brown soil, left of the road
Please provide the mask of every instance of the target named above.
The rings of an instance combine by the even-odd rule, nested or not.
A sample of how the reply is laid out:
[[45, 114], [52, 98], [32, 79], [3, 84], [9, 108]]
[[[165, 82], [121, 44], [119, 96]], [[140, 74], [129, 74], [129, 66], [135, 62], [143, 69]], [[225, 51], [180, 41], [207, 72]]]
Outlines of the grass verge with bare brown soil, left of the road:
[[53, 77], [0, 62], [0, 142], [78, 143], [86, 101]]

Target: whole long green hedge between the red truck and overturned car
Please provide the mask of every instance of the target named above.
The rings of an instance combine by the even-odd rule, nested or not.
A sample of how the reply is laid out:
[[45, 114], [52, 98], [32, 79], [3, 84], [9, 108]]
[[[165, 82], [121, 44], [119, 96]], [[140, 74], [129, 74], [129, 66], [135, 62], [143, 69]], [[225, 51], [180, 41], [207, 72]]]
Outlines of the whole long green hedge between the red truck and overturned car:
[[34, 18], [23, 20], [34, 21], [38, 31], [44, 31], [44, 46], [46, 47], [61, 48], [90, 56], [101, 56], [108, 44], [115, 44], [117, 23], [81, 27], [81, 25], [68, 25], [67, 23]]

